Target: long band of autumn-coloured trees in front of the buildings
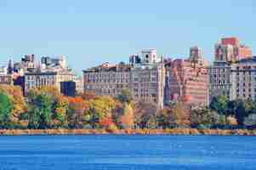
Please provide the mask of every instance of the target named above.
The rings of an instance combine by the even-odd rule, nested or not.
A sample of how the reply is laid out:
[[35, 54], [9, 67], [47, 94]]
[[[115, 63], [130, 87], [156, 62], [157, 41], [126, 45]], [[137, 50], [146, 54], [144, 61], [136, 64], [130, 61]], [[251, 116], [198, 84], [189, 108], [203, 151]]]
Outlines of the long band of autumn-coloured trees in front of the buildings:
[[31, 89], [0, 85], [0, 128], [254, 128], [256, 103], [213, 98], [209, 107], [174, 102], [157, 110], [156, 105], [134, 102], [123, 89], [117, 97], [93, 93], [67, 97], [53, 87]]

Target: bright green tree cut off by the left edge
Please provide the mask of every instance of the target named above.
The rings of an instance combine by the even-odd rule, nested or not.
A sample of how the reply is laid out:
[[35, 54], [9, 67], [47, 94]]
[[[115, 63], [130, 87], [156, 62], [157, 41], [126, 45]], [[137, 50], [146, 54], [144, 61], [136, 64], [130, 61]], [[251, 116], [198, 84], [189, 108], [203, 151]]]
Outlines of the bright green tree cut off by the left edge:
[[8, 126], [10, 114], [13, 108], [14, 105], [8, 95], [0, 92], [0, 127], [5, 128]]

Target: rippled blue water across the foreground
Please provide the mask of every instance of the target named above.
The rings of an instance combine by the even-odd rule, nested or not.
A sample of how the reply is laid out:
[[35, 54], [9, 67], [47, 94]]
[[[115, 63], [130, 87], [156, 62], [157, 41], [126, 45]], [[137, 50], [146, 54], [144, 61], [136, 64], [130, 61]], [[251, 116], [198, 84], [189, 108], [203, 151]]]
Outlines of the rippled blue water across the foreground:
[[0, 170], [255, 170], [256, 137], [1, 136]]

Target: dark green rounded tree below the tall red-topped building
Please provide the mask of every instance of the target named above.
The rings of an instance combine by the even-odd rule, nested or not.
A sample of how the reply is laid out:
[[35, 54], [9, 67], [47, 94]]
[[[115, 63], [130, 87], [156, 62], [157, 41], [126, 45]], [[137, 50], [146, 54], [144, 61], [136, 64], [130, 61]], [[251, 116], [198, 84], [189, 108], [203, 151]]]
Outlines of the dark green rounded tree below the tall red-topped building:
[[225, 115], [228, 109], [228, 99], [224, 95], [213, 97], [210, 108], [213, 111], [217, 111], [221, 115]]

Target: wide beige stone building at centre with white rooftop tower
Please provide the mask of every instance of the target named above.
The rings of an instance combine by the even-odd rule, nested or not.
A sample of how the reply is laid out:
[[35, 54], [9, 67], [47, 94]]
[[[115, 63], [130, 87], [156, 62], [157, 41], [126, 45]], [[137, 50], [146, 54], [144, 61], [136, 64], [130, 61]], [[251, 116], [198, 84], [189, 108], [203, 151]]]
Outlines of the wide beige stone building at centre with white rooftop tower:
[[142, 50], [140, 56], [132, 55], [129, 65], [103, 65], [83, 71], [84, 92], [117, 96], [127, 88], [134, 100], [163, 106], [165, 68], [156, 49]]

